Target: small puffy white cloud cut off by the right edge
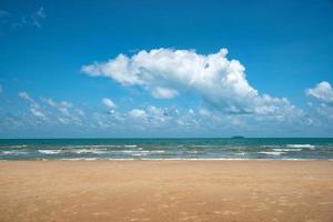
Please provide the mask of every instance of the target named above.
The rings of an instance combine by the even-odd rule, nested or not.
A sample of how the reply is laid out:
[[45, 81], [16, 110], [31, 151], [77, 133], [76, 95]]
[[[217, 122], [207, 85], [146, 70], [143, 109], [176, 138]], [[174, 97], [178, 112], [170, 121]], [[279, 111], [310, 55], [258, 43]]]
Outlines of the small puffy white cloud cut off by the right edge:
[[307, 97], [313, 97], [321, 102], [333, 102], [333, 89], [326, 81], [317, 83], [314, 88], [305, 90]]

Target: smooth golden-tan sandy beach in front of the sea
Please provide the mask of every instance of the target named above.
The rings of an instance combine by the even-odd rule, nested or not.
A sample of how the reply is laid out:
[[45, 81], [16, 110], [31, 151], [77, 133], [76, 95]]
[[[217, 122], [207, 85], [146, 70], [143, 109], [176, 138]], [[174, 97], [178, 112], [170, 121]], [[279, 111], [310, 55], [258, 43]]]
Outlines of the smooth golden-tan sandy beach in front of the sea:
[[1, 161], [0, 221], [333, 221], [333, 161]]

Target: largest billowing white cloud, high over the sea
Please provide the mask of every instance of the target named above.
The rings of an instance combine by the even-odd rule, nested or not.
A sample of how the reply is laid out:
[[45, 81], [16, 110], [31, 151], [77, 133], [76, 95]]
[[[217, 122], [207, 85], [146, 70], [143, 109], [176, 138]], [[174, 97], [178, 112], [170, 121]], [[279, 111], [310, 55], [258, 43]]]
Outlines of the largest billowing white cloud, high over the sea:
[[228, 50], [199, 54], [193, 50], [142, 50], [132, 57], [119, 54], [108, 62], [83, 65], [91, 77], [108, 77], [122, 85], [140, 85], [158, 99], [171, 99], [186, 91], [201, 95], [208, 107], [226, 113], [276, 114], [289, 109], [286, 99], [261, 95]]

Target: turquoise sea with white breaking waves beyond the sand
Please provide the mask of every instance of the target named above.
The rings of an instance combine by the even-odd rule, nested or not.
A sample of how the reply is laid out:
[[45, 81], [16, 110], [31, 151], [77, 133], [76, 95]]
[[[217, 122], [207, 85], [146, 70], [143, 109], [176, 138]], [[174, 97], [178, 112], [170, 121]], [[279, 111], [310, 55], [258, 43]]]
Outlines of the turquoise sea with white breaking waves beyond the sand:
[[333, 159], [333, 139], [0, 140], [0, 160]]

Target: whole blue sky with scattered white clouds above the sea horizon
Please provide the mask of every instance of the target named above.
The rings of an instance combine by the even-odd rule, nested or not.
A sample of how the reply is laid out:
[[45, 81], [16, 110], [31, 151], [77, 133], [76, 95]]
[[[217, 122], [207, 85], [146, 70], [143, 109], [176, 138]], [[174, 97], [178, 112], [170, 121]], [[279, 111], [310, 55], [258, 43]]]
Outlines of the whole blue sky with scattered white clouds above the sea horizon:
[[332, 137], [332, 0], [0, 0], [0, 138]]

